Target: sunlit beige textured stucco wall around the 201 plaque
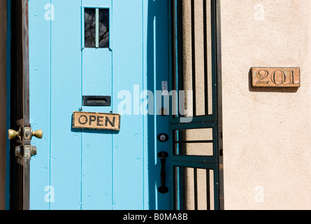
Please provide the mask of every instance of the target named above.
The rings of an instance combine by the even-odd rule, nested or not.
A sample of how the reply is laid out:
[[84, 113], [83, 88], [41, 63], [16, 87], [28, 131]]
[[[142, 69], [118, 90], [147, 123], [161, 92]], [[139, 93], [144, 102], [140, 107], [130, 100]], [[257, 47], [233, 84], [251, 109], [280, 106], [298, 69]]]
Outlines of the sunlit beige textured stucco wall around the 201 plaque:
[[[225, 209], [311, 209], [311, 1], [222, 0]], [[252, 66], [301, 67], [257, 90]]]

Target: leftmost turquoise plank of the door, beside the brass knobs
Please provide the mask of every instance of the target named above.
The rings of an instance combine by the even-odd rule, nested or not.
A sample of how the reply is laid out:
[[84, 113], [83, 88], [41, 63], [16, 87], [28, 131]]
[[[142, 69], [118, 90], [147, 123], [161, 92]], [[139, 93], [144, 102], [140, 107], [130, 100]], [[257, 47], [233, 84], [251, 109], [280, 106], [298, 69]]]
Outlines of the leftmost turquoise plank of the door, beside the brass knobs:
[[40, 126], [38, 129], [44, 130], [41, 141], [34, 139], [31, 142], [41, 148], [40, 158], [31, 158], [31, 209], [50, 208], [50, 204], [45, 202], [45, 188], [50, 186], [51, 27], [50, 21], [45, 20], [45, 4], [45, 1], [29, 1], [30, 122], [32, 129]]

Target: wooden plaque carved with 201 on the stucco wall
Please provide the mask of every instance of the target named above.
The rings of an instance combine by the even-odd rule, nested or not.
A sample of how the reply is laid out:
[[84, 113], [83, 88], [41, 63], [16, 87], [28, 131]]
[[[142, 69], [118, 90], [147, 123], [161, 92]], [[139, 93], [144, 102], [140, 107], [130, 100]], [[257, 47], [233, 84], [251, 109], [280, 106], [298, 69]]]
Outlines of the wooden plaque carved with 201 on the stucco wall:
[[301, 87], [300, 68], [252, 68], [253, 87]]

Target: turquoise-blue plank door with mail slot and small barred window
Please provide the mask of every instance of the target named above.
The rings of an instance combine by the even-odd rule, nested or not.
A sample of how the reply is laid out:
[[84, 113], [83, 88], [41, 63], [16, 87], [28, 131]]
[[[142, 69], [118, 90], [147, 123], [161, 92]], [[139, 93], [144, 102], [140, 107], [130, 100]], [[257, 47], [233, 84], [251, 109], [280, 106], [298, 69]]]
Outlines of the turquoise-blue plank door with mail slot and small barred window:
[[[169, 118], [155, 94], [168, 82], [168, 1], [31, 0], [29, 67], [31, 127], [43, 130], [30, 209], [169, 209], [157, 190]], [[120, 113], [120, 132], [74, 129], [74, 111]]]

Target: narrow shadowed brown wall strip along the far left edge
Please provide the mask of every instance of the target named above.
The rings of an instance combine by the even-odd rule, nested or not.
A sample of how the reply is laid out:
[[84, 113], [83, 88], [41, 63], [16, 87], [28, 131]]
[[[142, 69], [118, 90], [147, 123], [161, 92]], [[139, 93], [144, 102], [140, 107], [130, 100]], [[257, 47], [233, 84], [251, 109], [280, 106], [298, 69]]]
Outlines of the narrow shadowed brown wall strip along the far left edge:
[[0, 1], [0, 209], [6, 188], [6, 1]]

